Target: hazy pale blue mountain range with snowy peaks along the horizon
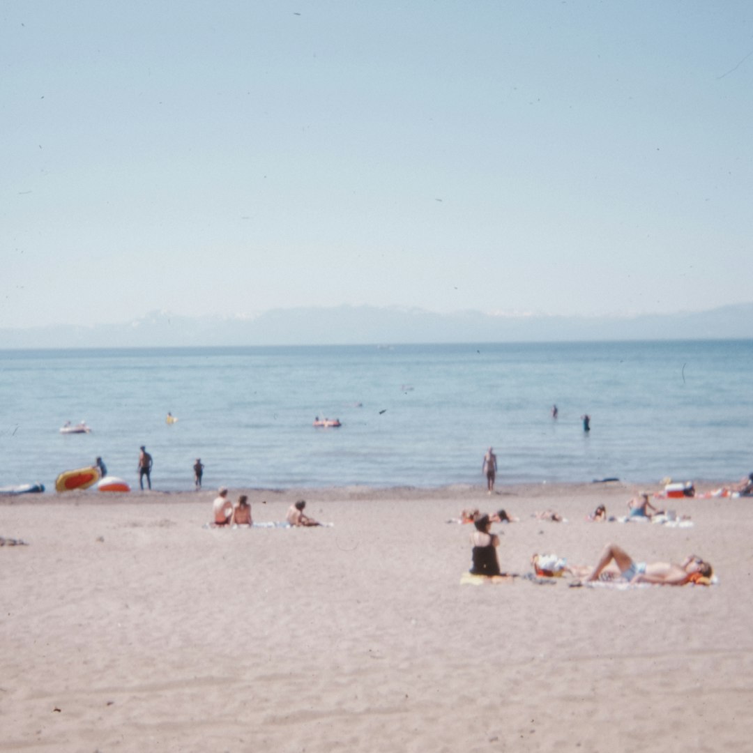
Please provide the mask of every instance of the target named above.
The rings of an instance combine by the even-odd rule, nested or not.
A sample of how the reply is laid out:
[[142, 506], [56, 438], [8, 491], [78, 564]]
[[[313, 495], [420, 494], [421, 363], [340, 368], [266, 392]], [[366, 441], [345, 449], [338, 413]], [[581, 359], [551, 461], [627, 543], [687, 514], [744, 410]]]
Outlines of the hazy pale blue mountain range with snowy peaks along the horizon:
[[333, 306], [273, 309], [252, 319], [151, 312], [118, 325], [2, 329], [0, 348], [117, 348], [398, 343], [542, 343], [753, 339], [753, 303], [639, 316], [538, 316]]

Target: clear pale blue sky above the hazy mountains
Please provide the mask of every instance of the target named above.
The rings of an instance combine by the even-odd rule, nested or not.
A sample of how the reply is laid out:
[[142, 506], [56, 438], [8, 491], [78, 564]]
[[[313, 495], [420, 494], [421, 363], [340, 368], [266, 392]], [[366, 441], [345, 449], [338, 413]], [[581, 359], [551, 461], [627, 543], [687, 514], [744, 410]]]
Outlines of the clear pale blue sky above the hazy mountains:
[[0, 5], [0, 328], [753, 300], [753, 5]]

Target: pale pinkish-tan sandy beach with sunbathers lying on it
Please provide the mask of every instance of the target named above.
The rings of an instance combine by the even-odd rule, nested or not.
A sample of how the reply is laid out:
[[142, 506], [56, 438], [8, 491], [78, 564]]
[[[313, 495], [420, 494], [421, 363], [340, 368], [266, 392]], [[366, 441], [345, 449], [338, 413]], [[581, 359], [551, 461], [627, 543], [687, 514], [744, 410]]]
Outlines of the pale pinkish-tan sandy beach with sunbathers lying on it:
[[[719, 483], [697, 484], [700, 492]], [[722, 751], [750, 748], [750, 499], [623, 515], [623, 483], [231, 489], [331, 527], [209, 529], [215, 489], [0, 500], [0, 751]], [[463, 508], [534, 553], [712, 562], [712, 587], [461, 585]], [[535, 520], [552, 508], [566, 523]]]

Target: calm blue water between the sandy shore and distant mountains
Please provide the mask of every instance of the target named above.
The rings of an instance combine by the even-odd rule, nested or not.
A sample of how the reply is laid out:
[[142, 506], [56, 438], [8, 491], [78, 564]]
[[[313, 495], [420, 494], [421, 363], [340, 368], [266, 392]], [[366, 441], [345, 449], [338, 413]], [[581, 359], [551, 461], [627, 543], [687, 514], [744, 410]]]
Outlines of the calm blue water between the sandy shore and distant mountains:
[[489, 447], [500, 486], [738, 480], [751, 374], [753, 340], [5, 350], [0, 486], [101, 456], [138, 488], [142, 445], [161, 491], [197, 458], [205, 488], [483, 486]]

